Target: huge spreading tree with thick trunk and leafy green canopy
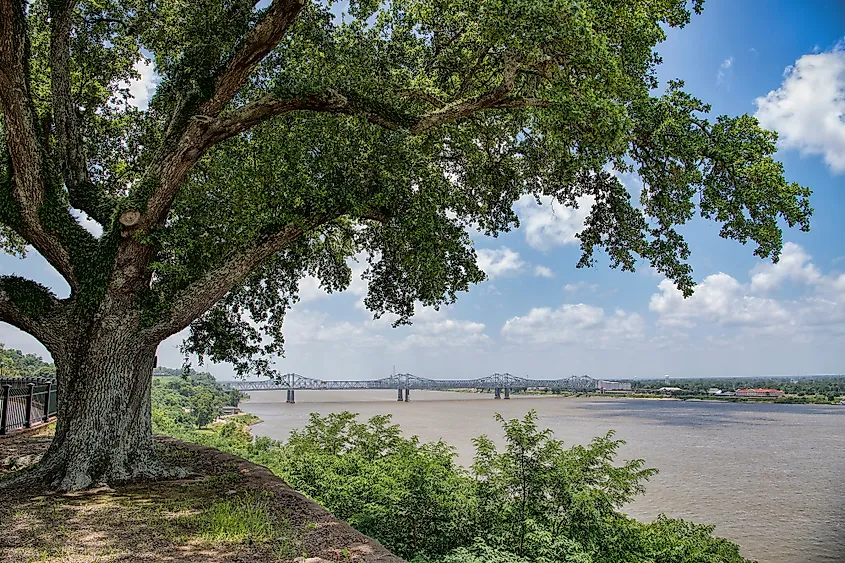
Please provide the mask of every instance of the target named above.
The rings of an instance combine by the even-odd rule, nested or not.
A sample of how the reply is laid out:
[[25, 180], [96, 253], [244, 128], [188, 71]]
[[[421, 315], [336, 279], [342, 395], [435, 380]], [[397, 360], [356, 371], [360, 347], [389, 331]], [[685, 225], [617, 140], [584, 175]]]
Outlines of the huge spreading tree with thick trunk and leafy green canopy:
[[[467, 228], [525, 194], [592, 205], [579, 266], [650, 263], [689, 295], [676, 230], [699, 214], [776, 259], [809, 190], [775, 134], [672, 82], [655, 46], [702, 0], [0, 0], [0, 247], [70, 295], [0, 277], [0, 320], [50, 351], [56, 435], [33, 477], [64, 489], [168, 473], [155, 456], [158, 344], [267, 369], [297, 282], [349, 284], [408, 322], [484, 275]], [[150, 57], [149, 107], [126, 81]], [[612, 173], [636, 171], [639, 202]], [[92, 235], [79, 217], [102, 227]], [[261, 333], [269, 333], [268, 342]]]

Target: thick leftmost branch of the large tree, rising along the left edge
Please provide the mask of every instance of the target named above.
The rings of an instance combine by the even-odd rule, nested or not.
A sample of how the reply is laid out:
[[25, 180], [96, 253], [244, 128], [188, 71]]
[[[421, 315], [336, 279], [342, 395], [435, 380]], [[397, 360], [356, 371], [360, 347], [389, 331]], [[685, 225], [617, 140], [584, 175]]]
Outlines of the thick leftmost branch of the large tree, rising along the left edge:
[[11, 221], [15, 231], [76, 289], [70, 254], [55, 230], [41, 222], [47, 179], [29, 85], [28, 41], [24, 2], [0, 0], [0, 105], [13, 173], [11, 182], [0, 188], [11, 191], [17, 207]]

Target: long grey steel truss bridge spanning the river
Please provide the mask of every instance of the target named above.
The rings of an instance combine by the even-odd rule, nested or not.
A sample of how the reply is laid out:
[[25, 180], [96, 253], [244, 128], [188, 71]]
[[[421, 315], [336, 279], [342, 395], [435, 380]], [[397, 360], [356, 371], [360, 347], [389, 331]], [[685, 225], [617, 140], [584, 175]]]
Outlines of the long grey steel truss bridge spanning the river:
[[346, 389], [395, 389], [397, 400], [410, 400], [411, 389], [484, 389], [493, 390], [494, 397], [510, 398], [512, 390], [543, 388], [562, 391], [592, 391], [597, 389], [598, 380], [589, 376], [572, 376], [565, 379], [527, 379], [509, 373], [494, 373], [478, 379], [427, 379], [410, 373], [400, 373], [381, 379], [333, 381], [312, 379], [298, 373], [286, 373], [277, 379], [261, 381], [221, 381], [222, 385], [238, 391], [287, 391], [287, 402], [295, 402], [295, 391], [346, 390]]

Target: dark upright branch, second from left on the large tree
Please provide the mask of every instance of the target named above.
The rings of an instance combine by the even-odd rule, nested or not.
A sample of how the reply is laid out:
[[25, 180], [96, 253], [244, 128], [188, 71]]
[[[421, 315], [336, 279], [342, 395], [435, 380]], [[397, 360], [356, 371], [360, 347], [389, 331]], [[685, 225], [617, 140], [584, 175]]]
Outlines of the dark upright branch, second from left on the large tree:
[[82, 133], [70, 85], [70, 32], [76, 0], [55, 0], [50, 6], [50, 80], [59, 162], [70, 204], [101, 225], [111, 216], [113, 201], [91, 183]]

